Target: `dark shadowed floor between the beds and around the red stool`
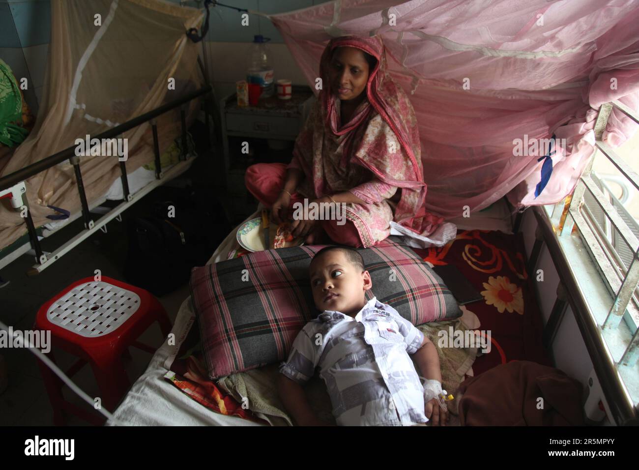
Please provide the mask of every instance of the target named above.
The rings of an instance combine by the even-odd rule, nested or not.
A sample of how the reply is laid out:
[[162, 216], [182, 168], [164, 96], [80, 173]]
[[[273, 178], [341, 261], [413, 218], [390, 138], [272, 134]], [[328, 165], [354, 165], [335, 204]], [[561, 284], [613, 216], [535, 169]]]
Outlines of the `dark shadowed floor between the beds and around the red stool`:
[[[220, 155], [221, 148], [218, 146], [213, 155]], [[211, 175], [208, 184], [220, 188], [215, 194], [219, 194], [219, 200], [224, 207], [227, 201], [233, 199], [232, 214], [227, 214], [231, 222], [237, 219], [242, 221], [246, 215], [253, 212], [257, 201], [251, 200], [252, 196], [240, 198], [244, 207], [238, 207], [236, 195], [227, 194], [222, 189], [222, 182], [215, 180], [215, 175], [220, 175], [220, 171], [215, 171], [215, 166], [219, 164], [212, 155], [206, 152], [199, 153], [199, 157], [194, 162], [192, 168], [187, 171], [183, 178], [201, 178], [201, 175]], [[200, 160], [203, 158], [203, 160]], [[198, 176], [200, 175], [200, 176]], [[208, 176], [205, 176], [208, 178]], [[178, 177], [180, 178], [180, 177]], [[153, 194], [151, 192], [151, 194]], [[123, 221], [128, 217], [144, 215], [147, 208], [144, 200], [151, 196], [149, 194], [143, 200], [136, 203], [132, 208], [123, 213]], [[249, 210], [243, 215], [245, 210]], [[240, 218], [242, 217], [242, 218]], [[27, 270], [33, 265], [33, 257], [23, 255], [18, 260], [5, 267], [0, 273], [1, 276], [10, 283], [0, 288], [0, 305], [3, 321], [12, 325], [14, 329], [24, 331], [31, 329], [40, 306], [51, 297], [61, 292], [73, 281], [93, 276], [96, 269], [100, 269], [102, 276], [115, 279], [125, 279], [123, 269], [125, 267], [125, 257], [127, 254], [127, 235], [125, 223], [112, 221], [107, 224], [107, 233], [97, 231], [87, 240], [73, 248], [70, 253], [63, 256], [58, 262], [45, 269], [37, 276], [26, 276]], [[43, 248], [52, 251], [54, 247], [62, 244], [66, 239], [82, 230], [80, 220], [69, 224], [68, 227], [58, 231], [51, 237], [45, 239]], [[159, 301], [166, 309], [171, 322], [174, 322], [181, 303], [190, 295], [188, 283], [178, 286], [173, 292], [158, 297]], [[139, 338], [142, 343], [150, 345], [154, 349], [160, 347], [164, 340], [157, 324], [152, 325]], [[131, 359], [125, 360], [125, 368], [131, 383], [135, 382], [151, 359], [151, 354], [147, 352], [129, 348]], [[53, 425], [53, 411], [49, 402], [47, 391], [44, 387], [38, 364], [33, 353], [26, 349], [3, 349], [0, 354], [4, 356], [4, 361], [8, 367], [8, 388], [0, 393], [0, 426], [19, 425], [37, 426]], [[74, 362], [75, 357], [54, 349], [56, 362], [62, 370], [67, 370]], [[100, 396], [100, 391], [96, 385], [95, 378], [90, 366], [85, 365], [73, 376], [73, 382], [77, 384], [89, 396]], [[84, 402], [72, 393], [68, 388], [64, 389], [65, 398], [74, 404], [84, 405]], [[88, 408], [88, 405], [86, 405]], [[67, 415], [68, 425], [86, 425], [86, 421]]]

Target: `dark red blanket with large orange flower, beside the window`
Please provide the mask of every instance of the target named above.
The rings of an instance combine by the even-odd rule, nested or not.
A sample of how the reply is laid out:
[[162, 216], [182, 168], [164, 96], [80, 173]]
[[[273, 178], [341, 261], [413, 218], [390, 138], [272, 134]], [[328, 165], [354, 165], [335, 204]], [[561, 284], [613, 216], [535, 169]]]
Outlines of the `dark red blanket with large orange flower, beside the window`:
[[542, 345], [543, 320], [535, 299], [536, 278], [526, 272], [521, 234], [501, 231], [458, 231], [442, 247], [415, 249], [433, 265], [455, 265], [483, 300], [466, 304], [491, 333], [491, 351], [473, 364], [475, 375], [510, 361], [553, 363]]

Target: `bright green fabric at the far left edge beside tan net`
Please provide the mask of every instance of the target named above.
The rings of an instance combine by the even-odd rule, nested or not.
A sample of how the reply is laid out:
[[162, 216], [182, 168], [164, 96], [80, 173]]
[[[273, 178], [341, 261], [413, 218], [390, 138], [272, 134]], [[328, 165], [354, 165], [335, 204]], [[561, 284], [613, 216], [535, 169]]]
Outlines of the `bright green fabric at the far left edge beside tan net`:
[[22, 95], [11, 67], [0, 59], [0, 143], [8, 147], [19, 145], [29, 131], [22, 122]]

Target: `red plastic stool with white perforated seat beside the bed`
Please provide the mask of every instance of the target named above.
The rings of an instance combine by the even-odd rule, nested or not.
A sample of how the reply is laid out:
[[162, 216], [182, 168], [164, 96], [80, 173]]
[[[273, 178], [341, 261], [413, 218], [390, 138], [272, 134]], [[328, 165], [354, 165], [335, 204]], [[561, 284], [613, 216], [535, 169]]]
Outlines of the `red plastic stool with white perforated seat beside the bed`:
[[[68, 286], [38, 310], [35, 329], [50, 330], [52, 346], [79, 357], [66, 374], [71, 377], [84, 364], [91, 364], [102, 393], [102, 406], [114, 411], [130, 387], [122, 356], [128, 347], [155, 353], [137, 338], [153, 322], [160, 324], [166, 338], [171, 321], [158, 300], [144, 289], [102, 276], [102, 281], [84, 278]], [[49, 358], [55, 362], [51, 352]], [[63, 382], [42, 361], [38, 361], [54, 410], [54, 423], [64, 425], [63, 411], [94, 424], [104, 418], [67, 402]]]

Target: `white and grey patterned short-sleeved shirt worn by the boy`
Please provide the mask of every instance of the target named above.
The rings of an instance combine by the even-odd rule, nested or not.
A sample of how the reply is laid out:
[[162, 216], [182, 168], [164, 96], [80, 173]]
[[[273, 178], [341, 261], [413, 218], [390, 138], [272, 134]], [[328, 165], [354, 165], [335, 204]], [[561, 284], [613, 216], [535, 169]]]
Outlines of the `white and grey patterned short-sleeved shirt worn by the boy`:
[[426, 423], [424, 388], [408, 354], [424, 334], [373, 297], [355, 317], [326, 310], [307, 323], [279, 371], [304, 384], [319, 368], [342, 426]]

